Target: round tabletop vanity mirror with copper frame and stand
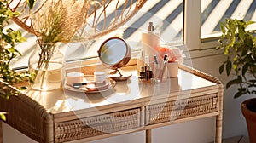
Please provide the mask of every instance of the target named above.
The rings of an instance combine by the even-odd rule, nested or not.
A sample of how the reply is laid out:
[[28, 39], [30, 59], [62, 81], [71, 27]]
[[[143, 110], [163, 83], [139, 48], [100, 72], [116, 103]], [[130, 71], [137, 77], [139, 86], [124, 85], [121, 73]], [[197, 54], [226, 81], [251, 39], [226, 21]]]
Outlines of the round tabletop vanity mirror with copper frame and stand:
[[119, 68], [125, 66], [131, 59], [131, 48], [120, 37], [108, 38], [102, 43], [98, 50], [99, 58], [104, 66], [108, 66], [113, 69], [113, 74], [108, 77], [113, 78], [116, 81], [127, 80], [131, 77], [131, 74], [120, 72]]

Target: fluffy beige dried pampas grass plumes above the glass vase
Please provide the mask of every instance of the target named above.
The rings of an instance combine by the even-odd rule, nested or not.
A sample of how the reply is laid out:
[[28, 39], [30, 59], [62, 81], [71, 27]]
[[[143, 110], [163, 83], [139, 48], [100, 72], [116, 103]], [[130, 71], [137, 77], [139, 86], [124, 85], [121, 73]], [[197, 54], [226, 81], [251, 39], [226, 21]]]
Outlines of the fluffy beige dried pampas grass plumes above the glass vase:
[[32, 27], [42, 43], [68, 43], [86, 25], [91, 0], [47, 0], [33, 13]]

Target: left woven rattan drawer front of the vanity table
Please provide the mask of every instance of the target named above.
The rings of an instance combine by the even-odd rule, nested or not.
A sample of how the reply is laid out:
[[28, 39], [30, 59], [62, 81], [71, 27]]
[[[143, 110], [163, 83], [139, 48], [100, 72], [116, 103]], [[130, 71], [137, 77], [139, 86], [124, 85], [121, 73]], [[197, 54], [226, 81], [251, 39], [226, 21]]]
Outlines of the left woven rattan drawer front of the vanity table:
[[78, 140], [141, 126], [140, 108], [55, 123], [55, 142]]

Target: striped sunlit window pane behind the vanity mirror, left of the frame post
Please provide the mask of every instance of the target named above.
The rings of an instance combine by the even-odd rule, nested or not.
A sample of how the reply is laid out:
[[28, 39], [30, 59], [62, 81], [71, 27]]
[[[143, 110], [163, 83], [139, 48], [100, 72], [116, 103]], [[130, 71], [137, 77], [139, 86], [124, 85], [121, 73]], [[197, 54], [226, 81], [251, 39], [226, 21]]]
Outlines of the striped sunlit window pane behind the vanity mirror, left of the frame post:
[[[123, 3], [123, 1], [119, 3]], [[131, 1], [131, 3], [134, 2], [136, 1]], [[155, 29], [160, 32], [163, 43], [183, 43], [183, 0], [154, 0], [147, 1], [143, 8], [117, 31], [90, 42], [69, 43], [64, 45], [61, 50], [67, 61], [96, 57], [96, 51], [102, 41], [116, 34], [123, 34], [131, 48], [136, 50], [140, 47], [141, 32], [147, 31], [149, 21], [154, 22]], [[11, 26], [20, 29], [15, 24], [11, 24]], [[28, 57], [32, 53], [32, 49], [35, 49], [36, 37], [24, 30], [23, 35], [27, 38], [27, 42], [17, 46], [23, 56], [14, 62], [14, 67], [27, 66]]]

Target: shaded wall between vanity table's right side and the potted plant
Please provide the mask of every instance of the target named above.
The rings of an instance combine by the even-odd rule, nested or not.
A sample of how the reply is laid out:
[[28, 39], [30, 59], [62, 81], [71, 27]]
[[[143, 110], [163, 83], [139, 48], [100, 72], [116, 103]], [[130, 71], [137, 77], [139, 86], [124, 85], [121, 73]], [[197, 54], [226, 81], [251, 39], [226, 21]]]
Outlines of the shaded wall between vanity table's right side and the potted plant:
[[[208, 56], [193, 60], [193, 66], [202, 72], [207, 72], [214, 77], [218, 77], [226, 85], [228, 77], [218, 74], [218, 67], [224, 61], [223, 55]], [[247, 126], [244, 117], [241, 114], [241, 102], [246, 100], [245, 97], [234, 99], [236, 87], [224, 89], [224, 123], [223, 136], [224, 138], [247, 135]]]

